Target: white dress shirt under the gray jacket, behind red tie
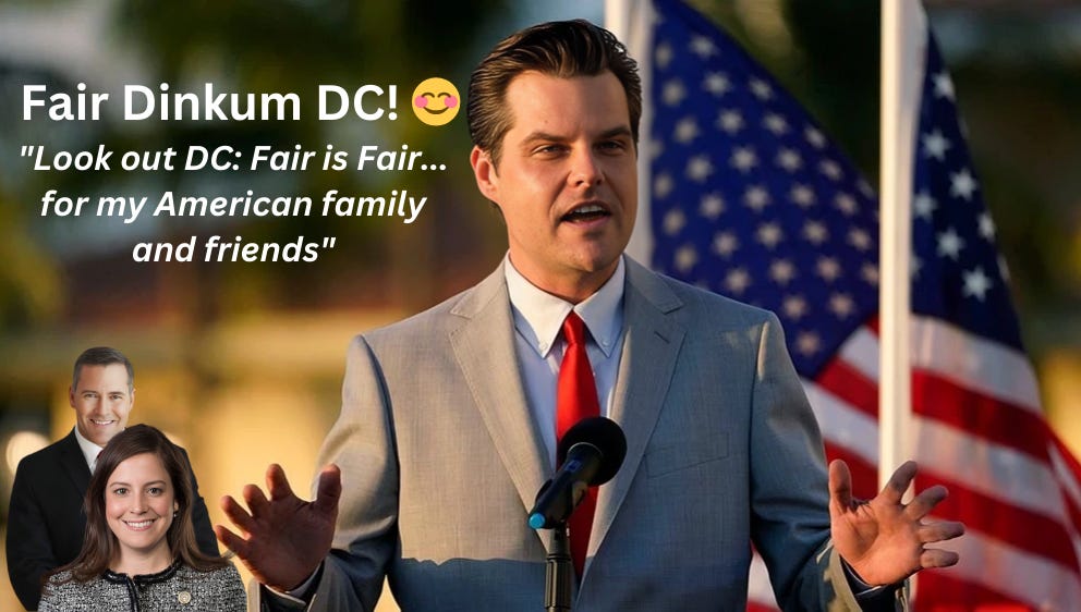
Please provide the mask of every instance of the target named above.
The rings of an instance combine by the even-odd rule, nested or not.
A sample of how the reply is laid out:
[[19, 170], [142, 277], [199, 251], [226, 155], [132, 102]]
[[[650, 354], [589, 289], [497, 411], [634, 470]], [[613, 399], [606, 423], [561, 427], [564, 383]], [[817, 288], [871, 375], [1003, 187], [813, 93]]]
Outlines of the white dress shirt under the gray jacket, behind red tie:
[[567, 341], [560, 329], [574, 310], [590, 330], [586, 353], [597, 382], [602, 416], [615, 401], [616, 375], [623, 353], [623, 258], [596, 293], [575, 304], [538, 289], [525, 279], [508, 256], [503, 261], [507, 291], [514, 316], [514, 353], [522, 374], [525, 400], [533, 420], [556, 465], [556, 385]]

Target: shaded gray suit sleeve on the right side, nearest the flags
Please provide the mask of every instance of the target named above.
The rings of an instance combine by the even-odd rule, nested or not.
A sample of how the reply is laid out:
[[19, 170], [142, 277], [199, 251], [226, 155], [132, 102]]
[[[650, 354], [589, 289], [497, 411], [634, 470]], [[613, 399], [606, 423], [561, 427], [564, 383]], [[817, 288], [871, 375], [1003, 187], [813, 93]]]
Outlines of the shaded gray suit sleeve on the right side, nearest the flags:
[[780, 608], [903, 610], [903, 593], [858, 601], [829, 542], [822, 436], [773, 315], [762, 328], [751, 409], [752, 533]]

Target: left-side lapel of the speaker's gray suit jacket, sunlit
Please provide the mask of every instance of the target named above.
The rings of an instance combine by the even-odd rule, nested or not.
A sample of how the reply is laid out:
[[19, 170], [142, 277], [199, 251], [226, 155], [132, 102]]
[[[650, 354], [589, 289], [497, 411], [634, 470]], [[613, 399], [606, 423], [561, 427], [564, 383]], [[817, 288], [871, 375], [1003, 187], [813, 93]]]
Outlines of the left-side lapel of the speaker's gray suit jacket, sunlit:
[[548, 453], [533, 423], [518, 369], [502, 266], [463, 297], [451, 314], [466, 319], [450, 333], [450, 342], [499, 458], [522, 498], [524, 524], [547, 478]]

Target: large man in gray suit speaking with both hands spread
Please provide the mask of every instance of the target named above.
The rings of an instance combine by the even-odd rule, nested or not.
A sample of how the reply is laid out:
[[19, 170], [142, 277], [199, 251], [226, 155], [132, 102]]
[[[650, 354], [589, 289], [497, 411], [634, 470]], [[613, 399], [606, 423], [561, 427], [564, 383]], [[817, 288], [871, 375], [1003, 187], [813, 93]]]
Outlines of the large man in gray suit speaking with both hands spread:
[[870, 501], [843, 463], [827, 477], [774, 315], [622, 255], [640, 114], [633, 60], [585, 22], [529, 28], [481, 62], [471, 163], [508, 256], [353, 341], [314, 502], [278, 466], [269, 499], [250, 485], [247, 510], [223, 500], [244, 537], [218, 537], [268, 587], [262, 605], [372, 610], [386, 576], [406, 611], [539, 609], [551, 542], [526, 513], [555, 467], [572, 311], [628, 442], [599, 488], [575, 610], [741, 610], [752, 543], [787, 610], [901, 608], [908, 576], [957, 562], [927, 546], [963, 530], [924, 522], [945, 489], [901, 501], [914, 464]]

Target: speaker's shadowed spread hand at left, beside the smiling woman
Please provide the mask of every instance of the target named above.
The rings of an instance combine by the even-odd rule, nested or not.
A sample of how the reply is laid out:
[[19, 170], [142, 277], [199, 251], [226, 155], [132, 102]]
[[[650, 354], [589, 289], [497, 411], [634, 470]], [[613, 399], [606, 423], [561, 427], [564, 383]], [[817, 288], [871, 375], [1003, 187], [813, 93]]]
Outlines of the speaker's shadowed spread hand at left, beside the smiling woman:
[[245, 511], [231, 495], [221, 509], [244, 537], [221, 525], [214, 530], [236, 553], [257, 580], [280, 591], [299, 587], [330, 552], [341, 497], [341, 470], [328, 465], [319, 473], [315, 501], [297, 498], [280, 465], [267, 468], [268, 500], [255, 485], [244, 487]]

